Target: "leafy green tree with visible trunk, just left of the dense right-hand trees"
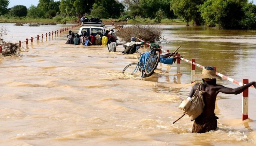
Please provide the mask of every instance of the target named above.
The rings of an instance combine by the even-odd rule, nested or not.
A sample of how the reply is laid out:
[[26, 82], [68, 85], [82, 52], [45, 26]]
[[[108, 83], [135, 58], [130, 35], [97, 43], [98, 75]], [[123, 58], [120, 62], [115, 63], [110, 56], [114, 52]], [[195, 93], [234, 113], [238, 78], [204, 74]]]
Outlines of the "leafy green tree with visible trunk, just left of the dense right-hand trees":
[[187, 26], [191, 20], [194, 21], [194, 25], [200, 25], [201, 16], [197, 6], [203, 2], [204, 0], [171, 0], [170, 9], [176, 16], [184, 19]]

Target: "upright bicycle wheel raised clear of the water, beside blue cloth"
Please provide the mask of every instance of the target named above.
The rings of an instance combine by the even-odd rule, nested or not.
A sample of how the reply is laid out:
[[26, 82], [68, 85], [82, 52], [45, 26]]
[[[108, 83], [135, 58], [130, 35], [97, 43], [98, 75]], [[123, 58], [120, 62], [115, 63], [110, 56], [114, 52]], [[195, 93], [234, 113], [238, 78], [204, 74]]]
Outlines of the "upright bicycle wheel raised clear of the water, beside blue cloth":
[[155, 51], [154, 53], [151, 53], [145, 68], [145, 73], [147, 76], [151, 76], [154, 73], [154, 70], [156, 69], [158, 62], [160, 60], [160, 53], [159, 51]]

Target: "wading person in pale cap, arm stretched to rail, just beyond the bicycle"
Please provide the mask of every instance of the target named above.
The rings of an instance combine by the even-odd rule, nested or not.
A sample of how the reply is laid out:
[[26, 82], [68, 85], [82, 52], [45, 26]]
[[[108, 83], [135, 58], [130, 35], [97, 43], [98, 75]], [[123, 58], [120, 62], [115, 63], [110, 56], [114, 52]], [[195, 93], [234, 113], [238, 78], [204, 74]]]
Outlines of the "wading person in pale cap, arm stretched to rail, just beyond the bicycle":
[[136, 38], [131, 37], [131, 42], [127, 42], [127, 43], [124, 44], [125, 50], [122, 53], [124, 53], [124, 54], [133, 54], [137, 50], [136, 47], [140, 46], [142, 44], [143, 44], [143, 41], [136, 42]]

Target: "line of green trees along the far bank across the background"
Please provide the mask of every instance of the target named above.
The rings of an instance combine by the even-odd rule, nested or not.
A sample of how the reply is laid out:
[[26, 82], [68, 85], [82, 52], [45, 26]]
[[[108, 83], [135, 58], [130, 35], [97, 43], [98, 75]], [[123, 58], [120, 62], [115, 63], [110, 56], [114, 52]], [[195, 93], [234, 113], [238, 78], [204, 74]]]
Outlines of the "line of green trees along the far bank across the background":
[[1, 0], [0, 15], [49, 18], [55, 16], [98, 17], [101, 19], [183, 19], [186, 24], [217, 26], [220, 29], [256, 29], [256, 5], [248, 0], [39, 0], [29, 8], [7, 8]]

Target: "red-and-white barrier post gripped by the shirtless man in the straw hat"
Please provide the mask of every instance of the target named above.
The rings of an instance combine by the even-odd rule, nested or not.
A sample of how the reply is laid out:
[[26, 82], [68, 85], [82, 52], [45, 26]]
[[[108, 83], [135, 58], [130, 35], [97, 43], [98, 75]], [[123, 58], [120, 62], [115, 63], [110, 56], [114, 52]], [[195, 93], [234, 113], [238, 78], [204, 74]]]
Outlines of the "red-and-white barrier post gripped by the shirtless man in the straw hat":
[[[248, 84], [248, 79], [243, 79], [243, 85]], [[245, 89], [243, 91], [243, 103], [242, 103], [242, 120], [246, 120], [248, 118], [248, 95], [249, 95], [249, 89]]]

